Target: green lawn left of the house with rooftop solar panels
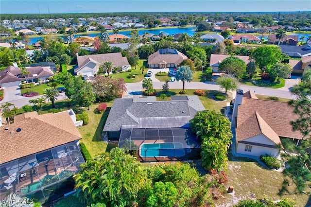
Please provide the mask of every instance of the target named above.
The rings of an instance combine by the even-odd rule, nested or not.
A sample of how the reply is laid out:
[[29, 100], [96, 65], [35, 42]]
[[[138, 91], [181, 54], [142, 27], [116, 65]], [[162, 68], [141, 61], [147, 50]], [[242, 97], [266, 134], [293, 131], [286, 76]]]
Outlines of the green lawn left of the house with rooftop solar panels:
[[[141, 74], [141, 70], [140, 67], [141, 66], [145, 66], [146, 69], [144, 71], [143, 74]], [[113, 78], [124, 78], [125, 83], [135, 83], [135, 82], [140, 82], [142, 81], [142, 79], [144, 79], [144, 76], [147, 73], [147, 60], [139, 60], [138, 65], [135, 67], [132, 67], [132, 71], [131, 72], [121, 72], [121, 73], [110, 73], [109, 75]], [[135, 78], [128, 78], [127, 76], [129, 74], [135, 74], [136, 77]]]

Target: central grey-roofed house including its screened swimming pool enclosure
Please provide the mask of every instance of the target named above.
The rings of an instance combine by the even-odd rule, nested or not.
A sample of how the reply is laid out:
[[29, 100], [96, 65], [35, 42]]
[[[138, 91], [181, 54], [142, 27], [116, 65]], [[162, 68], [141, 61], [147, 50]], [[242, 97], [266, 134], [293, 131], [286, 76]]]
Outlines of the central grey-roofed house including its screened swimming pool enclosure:
[[[171, 98], [172, 101], [156, 101], [155, 97], [115, 99], [104, 124], [106, 137], [119, 140], [120, 148], [135, 150], [139, 161], [198, 156], [199, 141], [190, 132], [189, 121], [205, 108], [197, 96]], [[151, 155], [145, 150], [151, 144], [158, 148], [163, 145], [166, 150], [155, 149], [155, 154]]]

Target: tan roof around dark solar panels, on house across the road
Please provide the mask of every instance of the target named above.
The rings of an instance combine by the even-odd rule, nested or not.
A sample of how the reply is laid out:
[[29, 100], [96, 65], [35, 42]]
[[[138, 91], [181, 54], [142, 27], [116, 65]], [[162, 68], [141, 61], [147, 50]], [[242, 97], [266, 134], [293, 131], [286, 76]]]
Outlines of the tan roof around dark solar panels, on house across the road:
[[160, 50], [149, 55], [148, 64], [159, 64], [162, 62], [173, 63], [178, 66], [183, 60], [188, 59], [186, 55], [177, 51], [177, 54], [160, 54]]

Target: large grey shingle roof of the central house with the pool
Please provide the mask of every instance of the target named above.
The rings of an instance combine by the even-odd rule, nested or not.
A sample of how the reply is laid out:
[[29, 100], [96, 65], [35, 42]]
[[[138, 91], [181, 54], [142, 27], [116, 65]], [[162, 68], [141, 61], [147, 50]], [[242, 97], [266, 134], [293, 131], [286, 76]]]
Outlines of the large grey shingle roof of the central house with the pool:
[[166, 128], [188, 124], [197, 111], [205, 110], [197, 96], [183, 101], [156, 101], [155, 98], [115, 99], [104, 131], [121, 128]]

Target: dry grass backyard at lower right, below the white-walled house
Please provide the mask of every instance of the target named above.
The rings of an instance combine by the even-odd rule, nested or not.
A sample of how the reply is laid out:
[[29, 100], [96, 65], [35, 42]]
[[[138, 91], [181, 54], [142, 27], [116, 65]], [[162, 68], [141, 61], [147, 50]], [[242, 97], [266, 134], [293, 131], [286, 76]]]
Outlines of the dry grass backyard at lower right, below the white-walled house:
[[[289, 180], [288, 190], [283, 196], [278, 194], [284, 179]], [[242, 199], [262, 199], [265, 196], [273, 200], [280, 200], [283, 197], [293, 199], [298, 207], [304, 207], [309, 196], [303, 193], [295, 193], [295, 185], [289, 177], [283, 173], [267, 170], [251, 159], [232, 157], [229, 155], [228, 182], [225, 184], [234, 187], [235, 193], [225, 194], [224, 199], [215, 201], [216, 205], [227, 205], [237, 203]], [[233, 205], [230, 205], [233, 206]]]

